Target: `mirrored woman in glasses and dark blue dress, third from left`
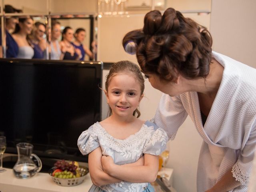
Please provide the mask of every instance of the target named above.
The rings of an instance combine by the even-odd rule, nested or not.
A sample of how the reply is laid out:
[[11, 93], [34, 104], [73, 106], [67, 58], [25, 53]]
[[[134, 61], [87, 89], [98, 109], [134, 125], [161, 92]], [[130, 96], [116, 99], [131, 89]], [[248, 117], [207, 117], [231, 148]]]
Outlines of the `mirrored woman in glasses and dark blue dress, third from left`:
[[44, 39], [46, 27], [41, 22], [36, 22], [30, 40], [34, 48], [34, 59], [46, 58], [46, 40]]

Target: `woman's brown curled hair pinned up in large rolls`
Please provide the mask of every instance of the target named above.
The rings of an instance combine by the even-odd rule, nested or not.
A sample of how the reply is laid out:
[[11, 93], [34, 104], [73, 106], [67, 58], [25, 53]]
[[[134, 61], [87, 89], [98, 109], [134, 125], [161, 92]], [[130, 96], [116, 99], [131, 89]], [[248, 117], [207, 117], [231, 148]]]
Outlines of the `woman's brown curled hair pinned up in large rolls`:
[[186, 78], [205, 78], [212, 58], [212, 37], [208, 30], [168, 8], [163, 15], [150, 11], [142, 30], [128, 32], [123, 46], [136, 44], [138, 63], [145, 74], [157, 74], [174, 81], [179, 74]]

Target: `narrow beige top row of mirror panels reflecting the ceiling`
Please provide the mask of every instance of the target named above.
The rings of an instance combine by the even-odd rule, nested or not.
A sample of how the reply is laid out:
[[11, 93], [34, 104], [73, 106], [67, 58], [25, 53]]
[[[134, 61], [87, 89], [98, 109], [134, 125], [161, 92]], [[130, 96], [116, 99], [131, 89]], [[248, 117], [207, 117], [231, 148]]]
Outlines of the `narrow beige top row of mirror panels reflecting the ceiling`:
[[28, 14], [97, 14], [104, 11], [132, 14], [136, 11], [148, 12], [152, 6], [159, 10], [173, 7], [182, 12], [211, 10], [211, 0], [4, 0], [4, 4], [15, 5]]

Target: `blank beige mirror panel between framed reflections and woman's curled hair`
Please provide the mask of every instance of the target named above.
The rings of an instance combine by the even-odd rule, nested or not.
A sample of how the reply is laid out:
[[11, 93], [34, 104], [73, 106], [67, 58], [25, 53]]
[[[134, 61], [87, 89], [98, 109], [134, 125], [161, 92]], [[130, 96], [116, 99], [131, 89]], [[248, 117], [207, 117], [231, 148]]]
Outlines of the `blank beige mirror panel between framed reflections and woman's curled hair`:
[[137, 63], [135, 55], [129, 55], [122, 47], [124, 35], [143, 27], [144, 15], [102, 16], [98, 18], [98, 60], [116, 62], [131, 60]]

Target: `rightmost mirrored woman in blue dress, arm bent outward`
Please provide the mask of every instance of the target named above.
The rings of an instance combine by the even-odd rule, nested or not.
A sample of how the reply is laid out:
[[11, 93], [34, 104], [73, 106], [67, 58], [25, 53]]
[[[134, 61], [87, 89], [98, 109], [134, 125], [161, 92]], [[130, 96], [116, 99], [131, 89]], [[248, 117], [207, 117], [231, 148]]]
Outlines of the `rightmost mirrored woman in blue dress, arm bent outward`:
[[72, 44], [74, 45], [75, 48], [81, 51], [82, 57], [80, 58], [80, 60], [84, 60], [85, 54], [88, 54], [90, 59], [93, 59], [94, 55], [91, 52], [91, 50], [82, 44], [82, 42], [84, 41], [84, 38], [86, 37], [85, 29], [78, 28], [74, 34], [74, 37], [75, 37], [75, 41]]

